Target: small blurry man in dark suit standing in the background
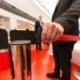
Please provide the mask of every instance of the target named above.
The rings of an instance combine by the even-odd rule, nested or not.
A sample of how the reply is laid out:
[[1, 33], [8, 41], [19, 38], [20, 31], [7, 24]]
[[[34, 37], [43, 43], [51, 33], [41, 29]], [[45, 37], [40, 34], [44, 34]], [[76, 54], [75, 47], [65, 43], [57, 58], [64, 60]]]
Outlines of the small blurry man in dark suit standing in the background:
[[36, 42], [36, 50], [39, 51], [41, 50], [41, 31], [43, 28], [43, 22], [42, 22], [42, 16], [39, 15], [39, 20], [36, 21], [35, 23], [35, 34], [37, 37], [37, 42]]

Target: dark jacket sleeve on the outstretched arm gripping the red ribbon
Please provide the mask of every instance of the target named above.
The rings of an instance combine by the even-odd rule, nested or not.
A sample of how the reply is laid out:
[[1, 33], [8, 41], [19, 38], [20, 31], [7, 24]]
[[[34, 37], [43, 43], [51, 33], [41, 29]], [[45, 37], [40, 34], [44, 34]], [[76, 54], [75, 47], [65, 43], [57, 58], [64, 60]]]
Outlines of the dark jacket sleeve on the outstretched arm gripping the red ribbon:
[[54, 22], [61, 24], [64, 28], [64, 32], [67, 32], [78, 21], [79, 16], [80, 0], [75, 0], [75, 2], [69, 7], [69, 9]]

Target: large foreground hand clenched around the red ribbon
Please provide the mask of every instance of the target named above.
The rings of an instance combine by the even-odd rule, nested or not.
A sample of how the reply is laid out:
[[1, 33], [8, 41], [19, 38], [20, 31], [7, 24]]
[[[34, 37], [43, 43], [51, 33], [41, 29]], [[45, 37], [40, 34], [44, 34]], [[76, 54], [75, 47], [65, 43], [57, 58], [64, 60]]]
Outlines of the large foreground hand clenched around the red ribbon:
[[43, 43], [52, 43], [63, 34], [64, 28], [55, 22], [48, 22], [44, 25], [41, 40]]

